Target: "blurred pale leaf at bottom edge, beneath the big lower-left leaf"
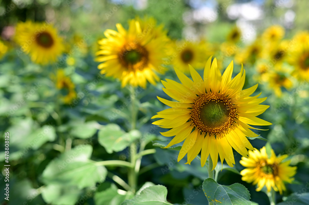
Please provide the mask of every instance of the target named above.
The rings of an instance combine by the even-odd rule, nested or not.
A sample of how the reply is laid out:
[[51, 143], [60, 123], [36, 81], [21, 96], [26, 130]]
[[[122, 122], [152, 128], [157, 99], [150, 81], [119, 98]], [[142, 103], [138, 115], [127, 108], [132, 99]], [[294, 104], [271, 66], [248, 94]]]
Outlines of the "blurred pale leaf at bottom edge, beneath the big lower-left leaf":
[[42, 191], [42, 198], [53, 205], [74, 205], [81, 191], [77, 187], [63, 184], [47, 185]]

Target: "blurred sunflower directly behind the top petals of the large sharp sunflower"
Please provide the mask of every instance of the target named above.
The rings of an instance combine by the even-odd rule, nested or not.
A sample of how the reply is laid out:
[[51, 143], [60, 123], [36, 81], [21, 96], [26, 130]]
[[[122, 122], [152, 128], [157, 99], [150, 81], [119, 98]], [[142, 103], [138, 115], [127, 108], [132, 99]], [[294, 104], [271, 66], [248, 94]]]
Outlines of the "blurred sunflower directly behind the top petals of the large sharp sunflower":
[[[179, 41], [174, 42], [171, 46], [173, 47], [172, 64], [178, 68], [181, 72], [189, 72], [188, 64], [192, 65], [197, 69], [203, 68], [206, 63], [205, 53], [206, 51], [205, 42], [192, 42], [192, 41]], [[176, 55], [175, 55], [176, 54]]]

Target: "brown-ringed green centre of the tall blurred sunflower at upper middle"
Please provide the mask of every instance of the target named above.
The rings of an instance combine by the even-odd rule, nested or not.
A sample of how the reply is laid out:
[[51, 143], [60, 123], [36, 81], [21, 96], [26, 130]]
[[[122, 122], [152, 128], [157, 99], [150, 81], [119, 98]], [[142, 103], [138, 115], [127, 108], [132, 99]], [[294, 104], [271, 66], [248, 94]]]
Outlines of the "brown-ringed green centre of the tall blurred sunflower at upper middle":
[[120, 63], [128, 70], [142, 70], [148, 64], [148, 51], [139, 44], [127, 44], [119, 53]]

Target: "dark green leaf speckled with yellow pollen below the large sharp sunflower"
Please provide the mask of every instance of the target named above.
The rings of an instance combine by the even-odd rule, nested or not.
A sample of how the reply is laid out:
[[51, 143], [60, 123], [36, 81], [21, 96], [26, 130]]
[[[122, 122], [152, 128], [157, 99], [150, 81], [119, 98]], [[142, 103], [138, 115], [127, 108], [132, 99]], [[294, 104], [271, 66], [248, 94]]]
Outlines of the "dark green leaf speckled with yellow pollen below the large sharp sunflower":
[[209, 202], [225, 205], [250, 205], [249, 191], [239, 183], [230, 186], [218, 184], [214, 179], [208, 178], [203, 182], [203, 191]]

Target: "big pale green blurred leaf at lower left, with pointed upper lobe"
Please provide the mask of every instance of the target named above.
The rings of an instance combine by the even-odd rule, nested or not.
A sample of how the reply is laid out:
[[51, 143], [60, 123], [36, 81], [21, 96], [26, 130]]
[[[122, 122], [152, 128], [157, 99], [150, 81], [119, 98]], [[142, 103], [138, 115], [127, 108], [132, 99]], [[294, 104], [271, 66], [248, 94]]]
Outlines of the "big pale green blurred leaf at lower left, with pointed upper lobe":
[[[92, 147], [78, 146], [60, 158], [52, 160], [42, 174], [45, 184], [66, 184], [82, 189], [103, 182], [107, 170], [88, 160]], [[91, 176], [91, 177], [89, 177]]]

